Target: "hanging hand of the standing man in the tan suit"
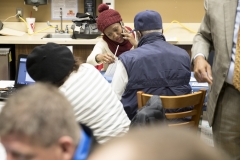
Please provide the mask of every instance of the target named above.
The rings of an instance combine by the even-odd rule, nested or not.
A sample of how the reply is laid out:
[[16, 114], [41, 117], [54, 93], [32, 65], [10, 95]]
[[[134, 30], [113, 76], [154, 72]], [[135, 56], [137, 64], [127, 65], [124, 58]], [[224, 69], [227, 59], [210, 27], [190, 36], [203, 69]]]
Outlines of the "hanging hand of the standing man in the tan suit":
[[198, 82], [208, 82], [212, 84], [211, 66], [202, 56], [197, 56], [194, 60], [194, 77]]

